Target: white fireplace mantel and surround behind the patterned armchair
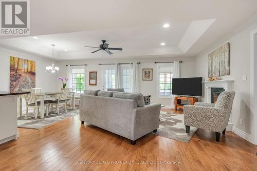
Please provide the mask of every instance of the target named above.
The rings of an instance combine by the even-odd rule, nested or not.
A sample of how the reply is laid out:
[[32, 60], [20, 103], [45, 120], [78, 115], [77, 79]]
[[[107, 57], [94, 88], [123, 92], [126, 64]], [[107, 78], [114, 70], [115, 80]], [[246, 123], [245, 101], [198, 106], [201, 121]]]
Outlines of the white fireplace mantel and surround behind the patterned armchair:
[[[205, 87], [206, 102], [211, 103], [211, 88], [223, 88], [225, 91], [233, 90], [233, 80], [203, 81]], [[232, 131], [232, 113], [229, 118], [227, 131]]]

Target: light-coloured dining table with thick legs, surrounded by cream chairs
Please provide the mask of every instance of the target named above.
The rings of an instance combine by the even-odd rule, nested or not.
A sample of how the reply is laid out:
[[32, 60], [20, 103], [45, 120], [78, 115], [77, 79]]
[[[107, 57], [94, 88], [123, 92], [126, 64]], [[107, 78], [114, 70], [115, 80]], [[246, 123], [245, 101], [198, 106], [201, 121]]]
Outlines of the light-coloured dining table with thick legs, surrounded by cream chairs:
[[[58, 99], [60, 92], [45, 92], [45, 93], [36, 93], [35, 94], [35, 98], [40, 100], [40, 118], [43, 119], [44, 118], [44, 113], [45, 113], [45, 104], [44, 101], [47, 98], [56, 98]], [[72, 99], [72, 110], [75, 109], [75, 92], [69, 92], [68, 95], [71, 97]], [[19, 117], [22, 117], [22, 99], [25, 98], [23, 94], [19, 95], [19, 99], [18, 99], [18, 104], [19, 104], [19, 108], [18, 108], [18, 114]]]

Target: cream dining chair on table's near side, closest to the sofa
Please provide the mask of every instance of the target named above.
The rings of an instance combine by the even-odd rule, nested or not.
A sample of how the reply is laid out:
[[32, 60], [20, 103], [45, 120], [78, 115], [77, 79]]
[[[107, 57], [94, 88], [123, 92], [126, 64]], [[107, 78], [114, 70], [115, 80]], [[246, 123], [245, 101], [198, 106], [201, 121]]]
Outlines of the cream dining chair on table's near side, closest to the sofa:
[[58, 99], [48, 101], [47, 108], [49, 109], [49, 104], [51, 104], [51, 105], [55, 104], [57, 113], [59, 115], [59, 113], [60, 113], [59, 107], [60, 107], [60, 105], [64, 104], [64, 110], [65, 110], [65, 112], [67, 112], [66, 104], [67, 104], [68, 93], [69, 93], [69, 88], [61, 89]]

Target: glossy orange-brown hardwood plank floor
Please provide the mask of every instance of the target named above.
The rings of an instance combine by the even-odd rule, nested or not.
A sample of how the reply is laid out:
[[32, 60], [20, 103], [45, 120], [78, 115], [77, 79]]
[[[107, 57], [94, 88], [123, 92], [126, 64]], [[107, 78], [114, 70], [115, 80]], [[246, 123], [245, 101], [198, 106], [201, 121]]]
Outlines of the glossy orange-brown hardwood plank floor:
[[232, 132], [216, 142], [198, 129], [189, 143], [148, 134], [131, 145], [79, 116], [18, 130], [19, 139], [0, 145], [0, 170], [257, 170], [257, 146]]

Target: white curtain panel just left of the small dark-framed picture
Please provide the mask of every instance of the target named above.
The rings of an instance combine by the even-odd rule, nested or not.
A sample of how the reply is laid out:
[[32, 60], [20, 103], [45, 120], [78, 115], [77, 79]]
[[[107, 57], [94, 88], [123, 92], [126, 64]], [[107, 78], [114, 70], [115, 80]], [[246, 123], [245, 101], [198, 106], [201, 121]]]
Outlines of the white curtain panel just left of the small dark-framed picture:
[[138, 69], [138, 63], [134, 62], [131, 63], [130, 68], [130, 76], [131, 76], [131, 91], [132, 92], [139, 92], [139, 69]]

